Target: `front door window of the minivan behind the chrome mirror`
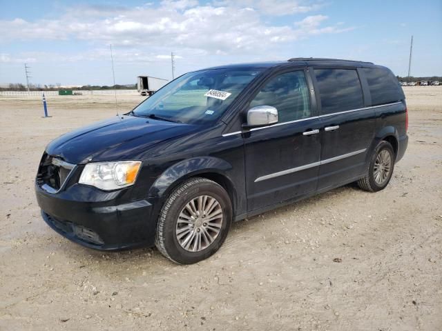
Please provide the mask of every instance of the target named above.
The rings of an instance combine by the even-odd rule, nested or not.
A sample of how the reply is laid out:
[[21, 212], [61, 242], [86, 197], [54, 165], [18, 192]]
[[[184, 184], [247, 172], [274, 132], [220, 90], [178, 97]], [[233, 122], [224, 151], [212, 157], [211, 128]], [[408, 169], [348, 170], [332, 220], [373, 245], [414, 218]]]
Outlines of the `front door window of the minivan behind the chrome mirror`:
[[273, 106], [279, 123], [311, 117], [309, 89], [303, 71], [287, 72], [270, 79], [251, 101], [255, 106]]

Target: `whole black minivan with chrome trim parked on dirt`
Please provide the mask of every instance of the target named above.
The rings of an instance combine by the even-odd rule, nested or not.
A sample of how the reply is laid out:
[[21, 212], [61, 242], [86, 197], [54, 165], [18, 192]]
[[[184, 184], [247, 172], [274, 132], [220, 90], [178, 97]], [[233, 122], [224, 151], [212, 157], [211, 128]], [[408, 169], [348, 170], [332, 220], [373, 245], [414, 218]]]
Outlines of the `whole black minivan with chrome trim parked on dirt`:
[[99, 250], [210, 257], [232, 221], [357, 182], [376, 192], [407, 148], [399, 82], [361, 61], [296, 58], [189, 72], [41, 158], [41, 214]]

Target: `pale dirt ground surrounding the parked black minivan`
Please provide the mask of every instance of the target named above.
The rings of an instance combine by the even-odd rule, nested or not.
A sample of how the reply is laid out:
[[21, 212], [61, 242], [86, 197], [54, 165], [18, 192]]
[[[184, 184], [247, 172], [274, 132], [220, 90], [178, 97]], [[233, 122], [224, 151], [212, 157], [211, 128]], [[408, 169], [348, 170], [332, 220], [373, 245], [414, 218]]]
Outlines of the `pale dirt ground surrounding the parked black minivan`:
[[442, 330], [442, 86], [405, 94], [410, 143], [385, 190], [240, 221], [188, 266], [82, 248], [41, 219], [46, 144], [113, 116], [113, 96], [49, 97], [49, 119], [36, 97], [0, 96], [0, 330]]

